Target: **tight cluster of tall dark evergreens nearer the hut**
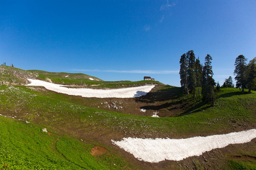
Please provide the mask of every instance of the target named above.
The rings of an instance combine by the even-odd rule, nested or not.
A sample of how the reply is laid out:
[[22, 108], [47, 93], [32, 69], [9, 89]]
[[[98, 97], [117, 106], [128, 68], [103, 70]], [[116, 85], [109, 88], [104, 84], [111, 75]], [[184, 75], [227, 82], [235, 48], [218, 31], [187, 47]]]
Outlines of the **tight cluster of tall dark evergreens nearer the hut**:
[[[214, 86], [212, 57], [207, 54], [204, 66], [196, 59], [193, 50], [184, 53], [180, 57], [180, 84], [187, 94], [196, 97], [196, 89], [202, 88], [203, 100], [214, 104]], [[201, 95], [201, 94], [200, 94]]]

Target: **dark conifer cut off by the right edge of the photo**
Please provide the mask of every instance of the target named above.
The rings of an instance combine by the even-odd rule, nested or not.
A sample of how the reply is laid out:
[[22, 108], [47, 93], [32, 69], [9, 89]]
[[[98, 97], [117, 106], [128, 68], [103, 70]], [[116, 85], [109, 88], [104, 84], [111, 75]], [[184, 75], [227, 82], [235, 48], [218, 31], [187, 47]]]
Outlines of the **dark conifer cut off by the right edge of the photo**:
[[251, 92], [251, 90], [256, 90], [256, 57], [251, 59], [251, 61], [247, 65], [246, 82], [249, 93]]

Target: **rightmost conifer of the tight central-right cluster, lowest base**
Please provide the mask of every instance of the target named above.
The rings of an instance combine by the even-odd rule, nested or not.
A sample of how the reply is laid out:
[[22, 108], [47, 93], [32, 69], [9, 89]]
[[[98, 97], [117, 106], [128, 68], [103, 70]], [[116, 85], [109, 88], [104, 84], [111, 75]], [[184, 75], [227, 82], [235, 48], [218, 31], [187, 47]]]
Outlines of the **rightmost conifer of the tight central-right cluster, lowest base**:
[[212, 103], [212, 105], [214, 106], [214, 86], [216, 85], [216, 83], [212, 78], [213, 71], [212, 71], [211, 60], [212, 60], [212, 57], [209, 54], [207, 54], [207, 56], [205, 57], [205, 63], [203, 67], [202, 92], [203, 92], [203, 100], [206, 102]]

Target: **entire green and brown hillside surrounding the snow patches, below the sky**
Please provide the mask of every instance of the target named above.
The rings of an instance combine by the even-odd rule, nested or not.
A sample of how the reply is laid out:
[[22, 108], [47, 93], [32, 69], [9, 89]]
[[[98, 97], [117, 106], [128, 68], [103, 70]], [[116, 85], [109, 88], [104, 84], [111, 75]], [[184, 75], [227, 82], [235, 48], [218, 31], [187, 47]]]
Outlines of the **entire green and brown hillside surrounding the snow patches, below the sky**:
[[[0, 86], [0, 169], [256, 168], [255, 139], [180, 162], [161, 163], [141, 162], [111, 142], [123, 137], [188, 138], [254, 129], [255, 91], [241, 95], [239, 89], [221, 88], [216, 107], [210, 107], [199, 95], [193, 100], [192, 96], [183, 95], [179, 87], [158, 82], [104, 82], [90, 80], [94, 77], [83, 74], [5, 67], [0, 81], [8, 80], [14, 85]], [[25, 84], [27, 77], [49, 78], [63, 84], [99, 82], [105, 87], [144, 83], [158, 83], [158, 86], [148, 95], [134, 99], [86, 99], [57, 94], [43, 87], [18, 85]], [[16, 83], [11, 82], [13, 78]], [[122, 108], [108, 107], [114, 104]], [[140, 108], [146, 108], [146, 113], [139, 111]], [[160, 117], [151, 117], [156, 111]], [[100, 155], [93, 156], [92, 148], [97, 146], [104, 149], [99, 151]]]

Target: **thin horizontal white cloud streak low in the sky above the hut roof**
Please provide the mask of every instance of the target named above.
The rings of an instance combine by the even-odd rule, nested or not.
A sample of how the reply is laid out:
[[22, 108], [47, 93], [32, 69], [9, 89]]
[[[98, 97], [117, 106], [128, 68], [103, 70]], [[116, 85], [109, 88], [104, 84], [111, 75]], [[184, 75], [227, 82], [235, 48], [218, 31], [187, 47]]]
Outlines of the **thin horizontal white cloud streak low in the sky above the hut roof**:
[[179, 71], [171, 70], [84, 70], [84, 69], [73, 69], [73, 71], [82, 72], [108, 72], [108, 73], [134, 73], [134, 74], [179, 74]]

